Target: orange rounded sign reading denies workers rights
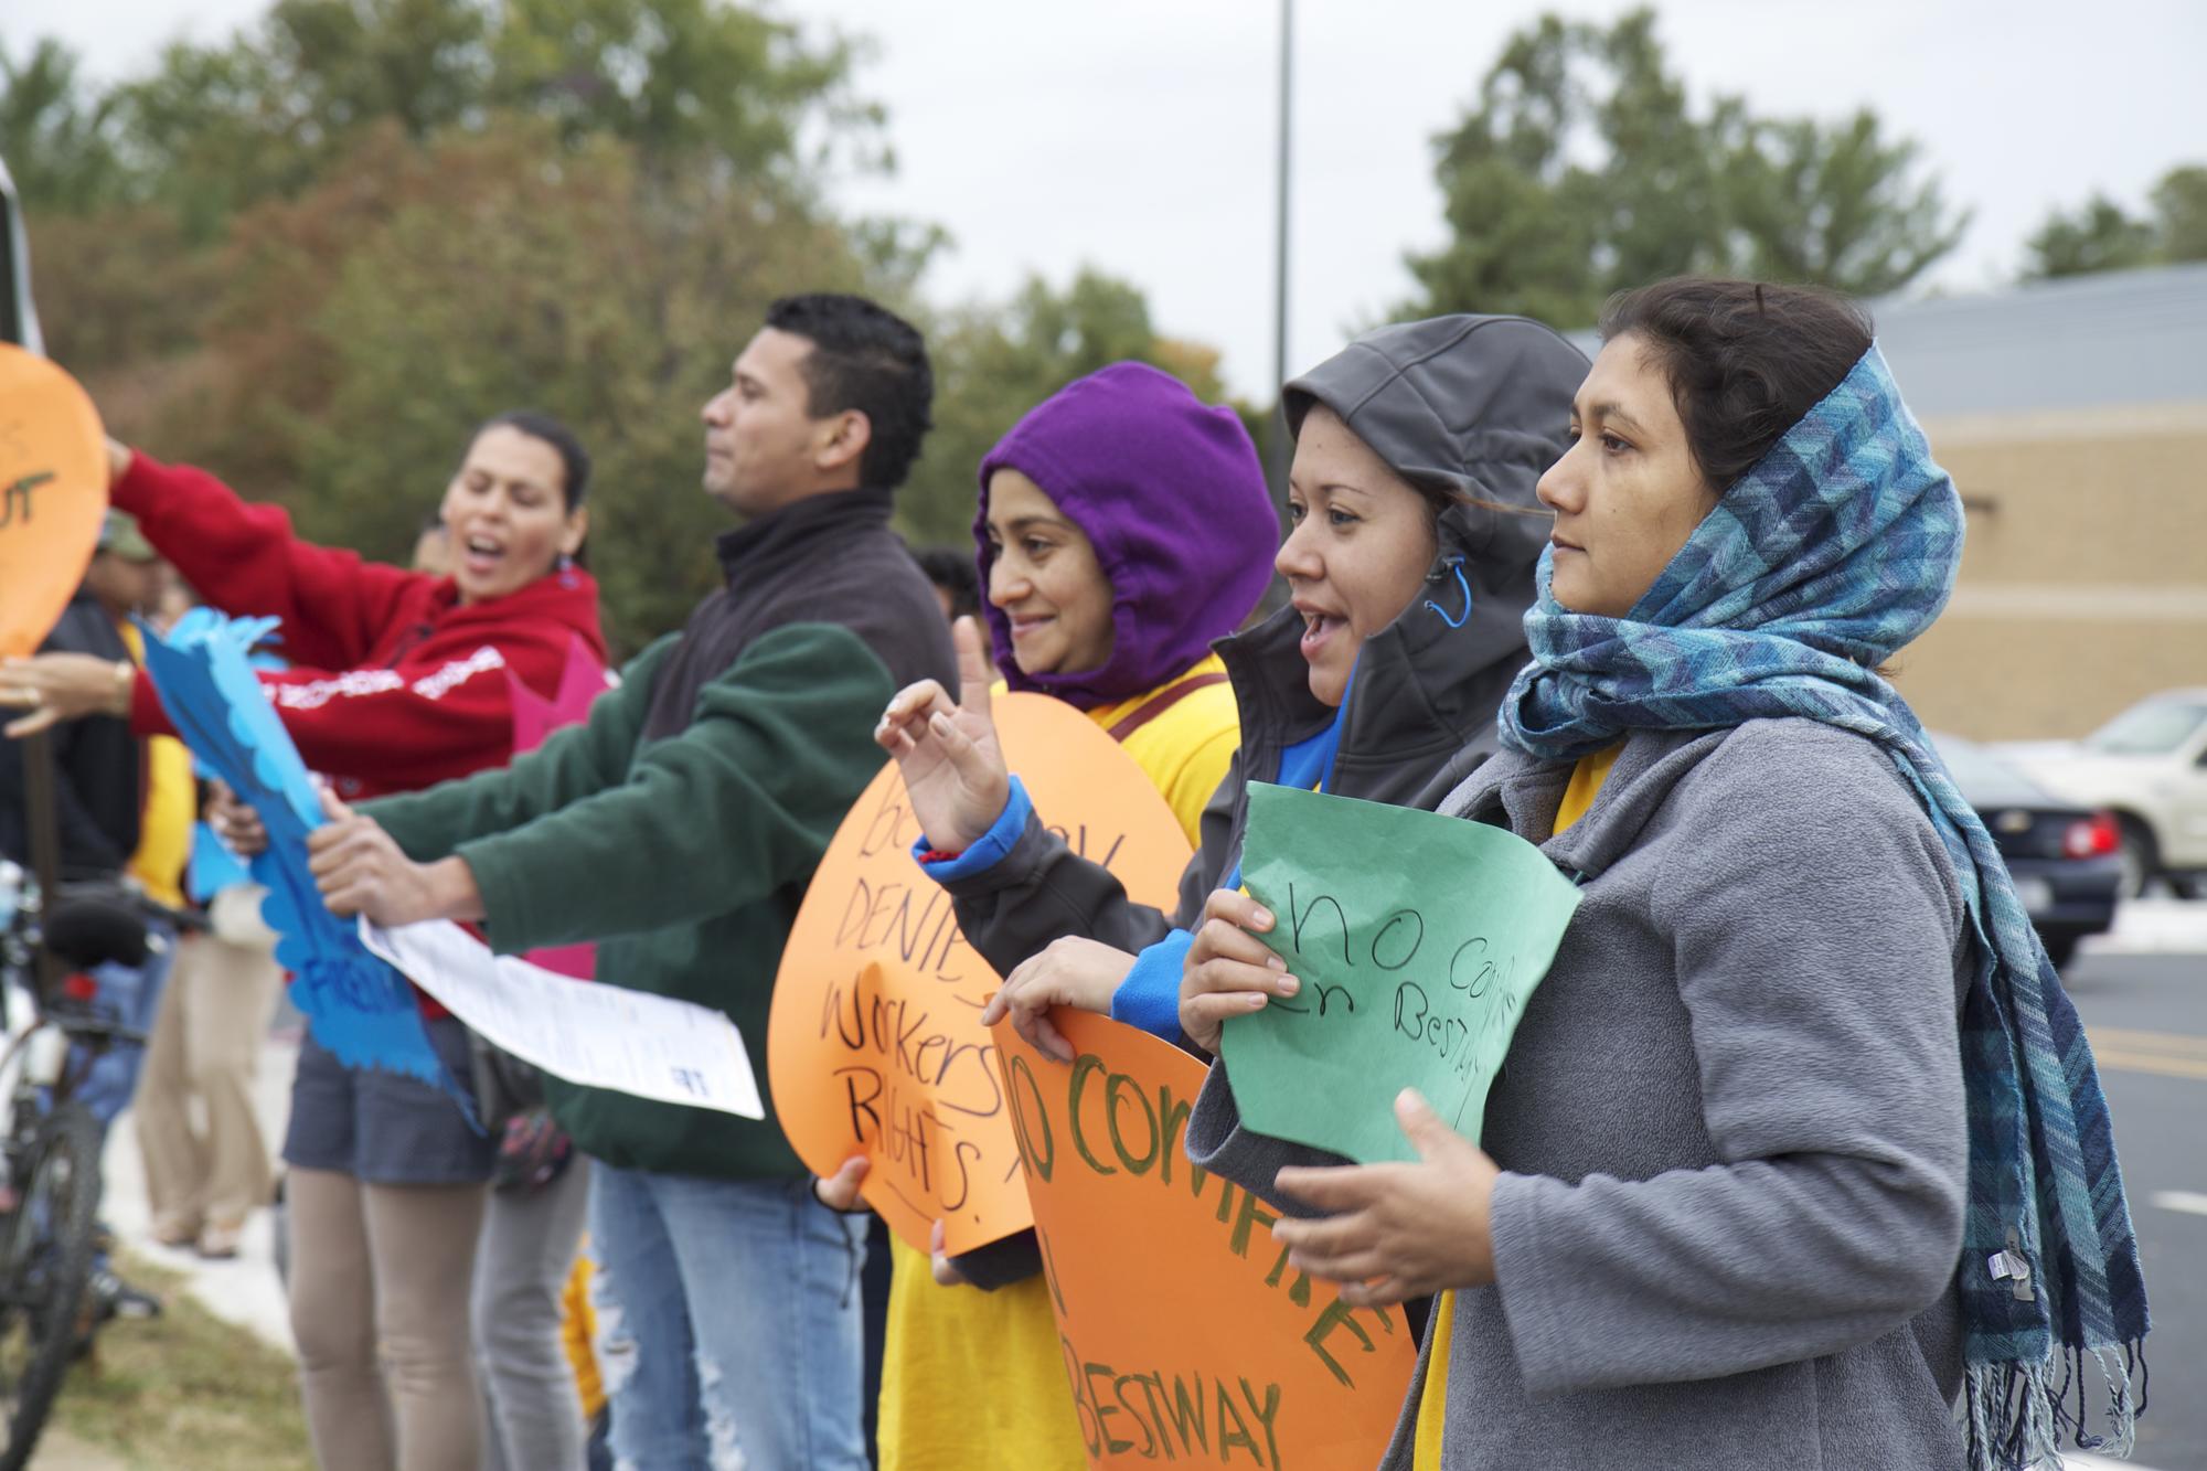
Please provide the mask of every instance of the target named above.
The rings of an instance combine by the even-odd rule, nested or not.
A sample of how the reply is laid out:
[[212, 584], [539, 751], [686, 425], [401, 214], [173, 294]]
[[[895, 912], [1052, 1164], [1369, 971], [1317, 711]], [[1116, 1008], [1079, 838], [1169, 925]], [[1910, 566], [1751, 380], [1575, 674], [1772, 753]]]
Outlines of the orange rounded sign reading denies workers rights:
[[[1004, 760], [1075, 853], [1137, 903], [1174, 906], [1187, 837], [1141, 766], [1088, 716], [1037, 694], [993, 702]], [[766, 1034], [775, 1118], [830, 1175], [867, 1155], [865, 1202], [951, 1255], [1026, 1230], [1026, 1186], [980, 1009], [1000, 976], [911, 859], [920, 826], [892, 762], [843, 819], [797, 910]]]

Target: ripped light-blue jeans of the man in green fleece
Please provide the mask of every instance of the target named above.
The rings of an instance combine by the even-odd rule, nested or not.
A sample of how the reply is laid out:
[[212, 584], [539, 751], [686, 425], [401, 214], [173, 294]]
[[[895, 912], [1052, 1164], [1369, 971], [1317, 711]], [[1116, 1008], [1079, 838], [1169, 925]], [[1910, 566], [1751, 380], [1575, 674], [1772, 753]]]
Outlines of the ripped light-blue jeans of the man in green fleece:
[[865, 1471], [865, 1217], [810, 1177], [596, 1164], [598, 1365], [620, 1471]]

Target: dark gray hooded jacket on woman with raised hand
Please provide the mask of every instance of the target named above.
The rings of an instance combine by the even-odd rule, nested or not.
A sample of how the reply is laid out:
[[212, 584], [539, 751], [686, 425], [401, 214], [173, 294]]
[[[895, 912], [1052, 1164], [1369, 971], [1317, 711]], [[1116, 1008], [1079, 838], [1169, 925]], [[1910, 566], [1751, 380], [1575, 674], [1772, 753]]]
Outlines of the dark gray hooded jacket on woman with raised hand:
[[[1494, 751], [1494, 711], [1525, 663], [1532, 570], [1552, 523], [1534, 486], [1567, 448], [1585, 375], [1587, 358], [1540, 322], [1441, 316], [1366, 334], [1287, 384], [1291, 428], [1326, 404], [1404, 479], [1470, 497], [1441, 512], [1426, 588], [1364, 641], [1326, 791], [1430, 808]], [[1143, 950], [1174, 923], [1187, 928], [1240, 857], [1245, 786], [1273, 780], [1280, 753], [1335, 716], [1311, 694], [1300, 641], [1302, 616], [1282, 607], [1214, 645], [1240, 707], [1240, 753], [1203, 815], [1176, 917], [1128, 901], [1042, 813], [1002, 861], [949, 883], [967, 943], [1009, 974], [1066, 934]]]

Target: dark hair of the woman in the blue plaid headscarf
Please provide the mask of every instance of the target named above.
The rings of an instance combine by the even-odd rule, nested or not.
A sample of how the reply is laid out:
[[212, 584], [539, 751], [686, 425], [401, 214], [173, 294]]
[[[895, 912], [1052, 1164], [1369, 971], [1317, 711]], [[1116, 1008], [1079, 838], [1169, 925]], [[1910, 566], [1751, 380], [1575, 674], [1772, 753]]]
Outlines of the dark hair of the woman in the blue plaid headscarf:
[[1618, 292], [1600, 334], [1627, 334], [1671, 380], [1686, 448], [1719, 495], [1869, 351], [1869, 311], [1821, 287], [1680, 276]]

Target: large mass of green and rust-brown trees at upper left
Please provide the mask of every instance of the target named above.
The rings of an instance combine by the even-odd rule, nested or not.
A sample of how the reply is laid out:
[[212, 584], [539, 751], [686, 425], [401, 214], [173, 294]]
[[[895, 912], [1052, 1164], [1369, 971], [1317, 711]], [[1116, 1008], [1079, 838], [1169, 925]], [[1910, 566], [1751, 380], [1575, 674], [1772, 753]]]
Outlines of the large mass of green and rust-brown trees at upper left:
[[695, 415], [779, 294], [929, 331], [914, 539], [962, 541], [982, 453], [1081, 373], [1141, 358], [1223, 395], [1218, 356], [1104, 272], [929, 311], [942, 232], [825, 201], [836, 152], [883, 157], [856, 55], [724, 0], [278, 0], [113, 91], [35, 51], [0, 117], [40, 119], [55, 174], [113, 144], [79, 208], [26, 212], [49, 345], [117, 433], [391, 559], [475, 422], [556, 413], [598, 464], [591, 563], [633, 649], [713, 583]]

